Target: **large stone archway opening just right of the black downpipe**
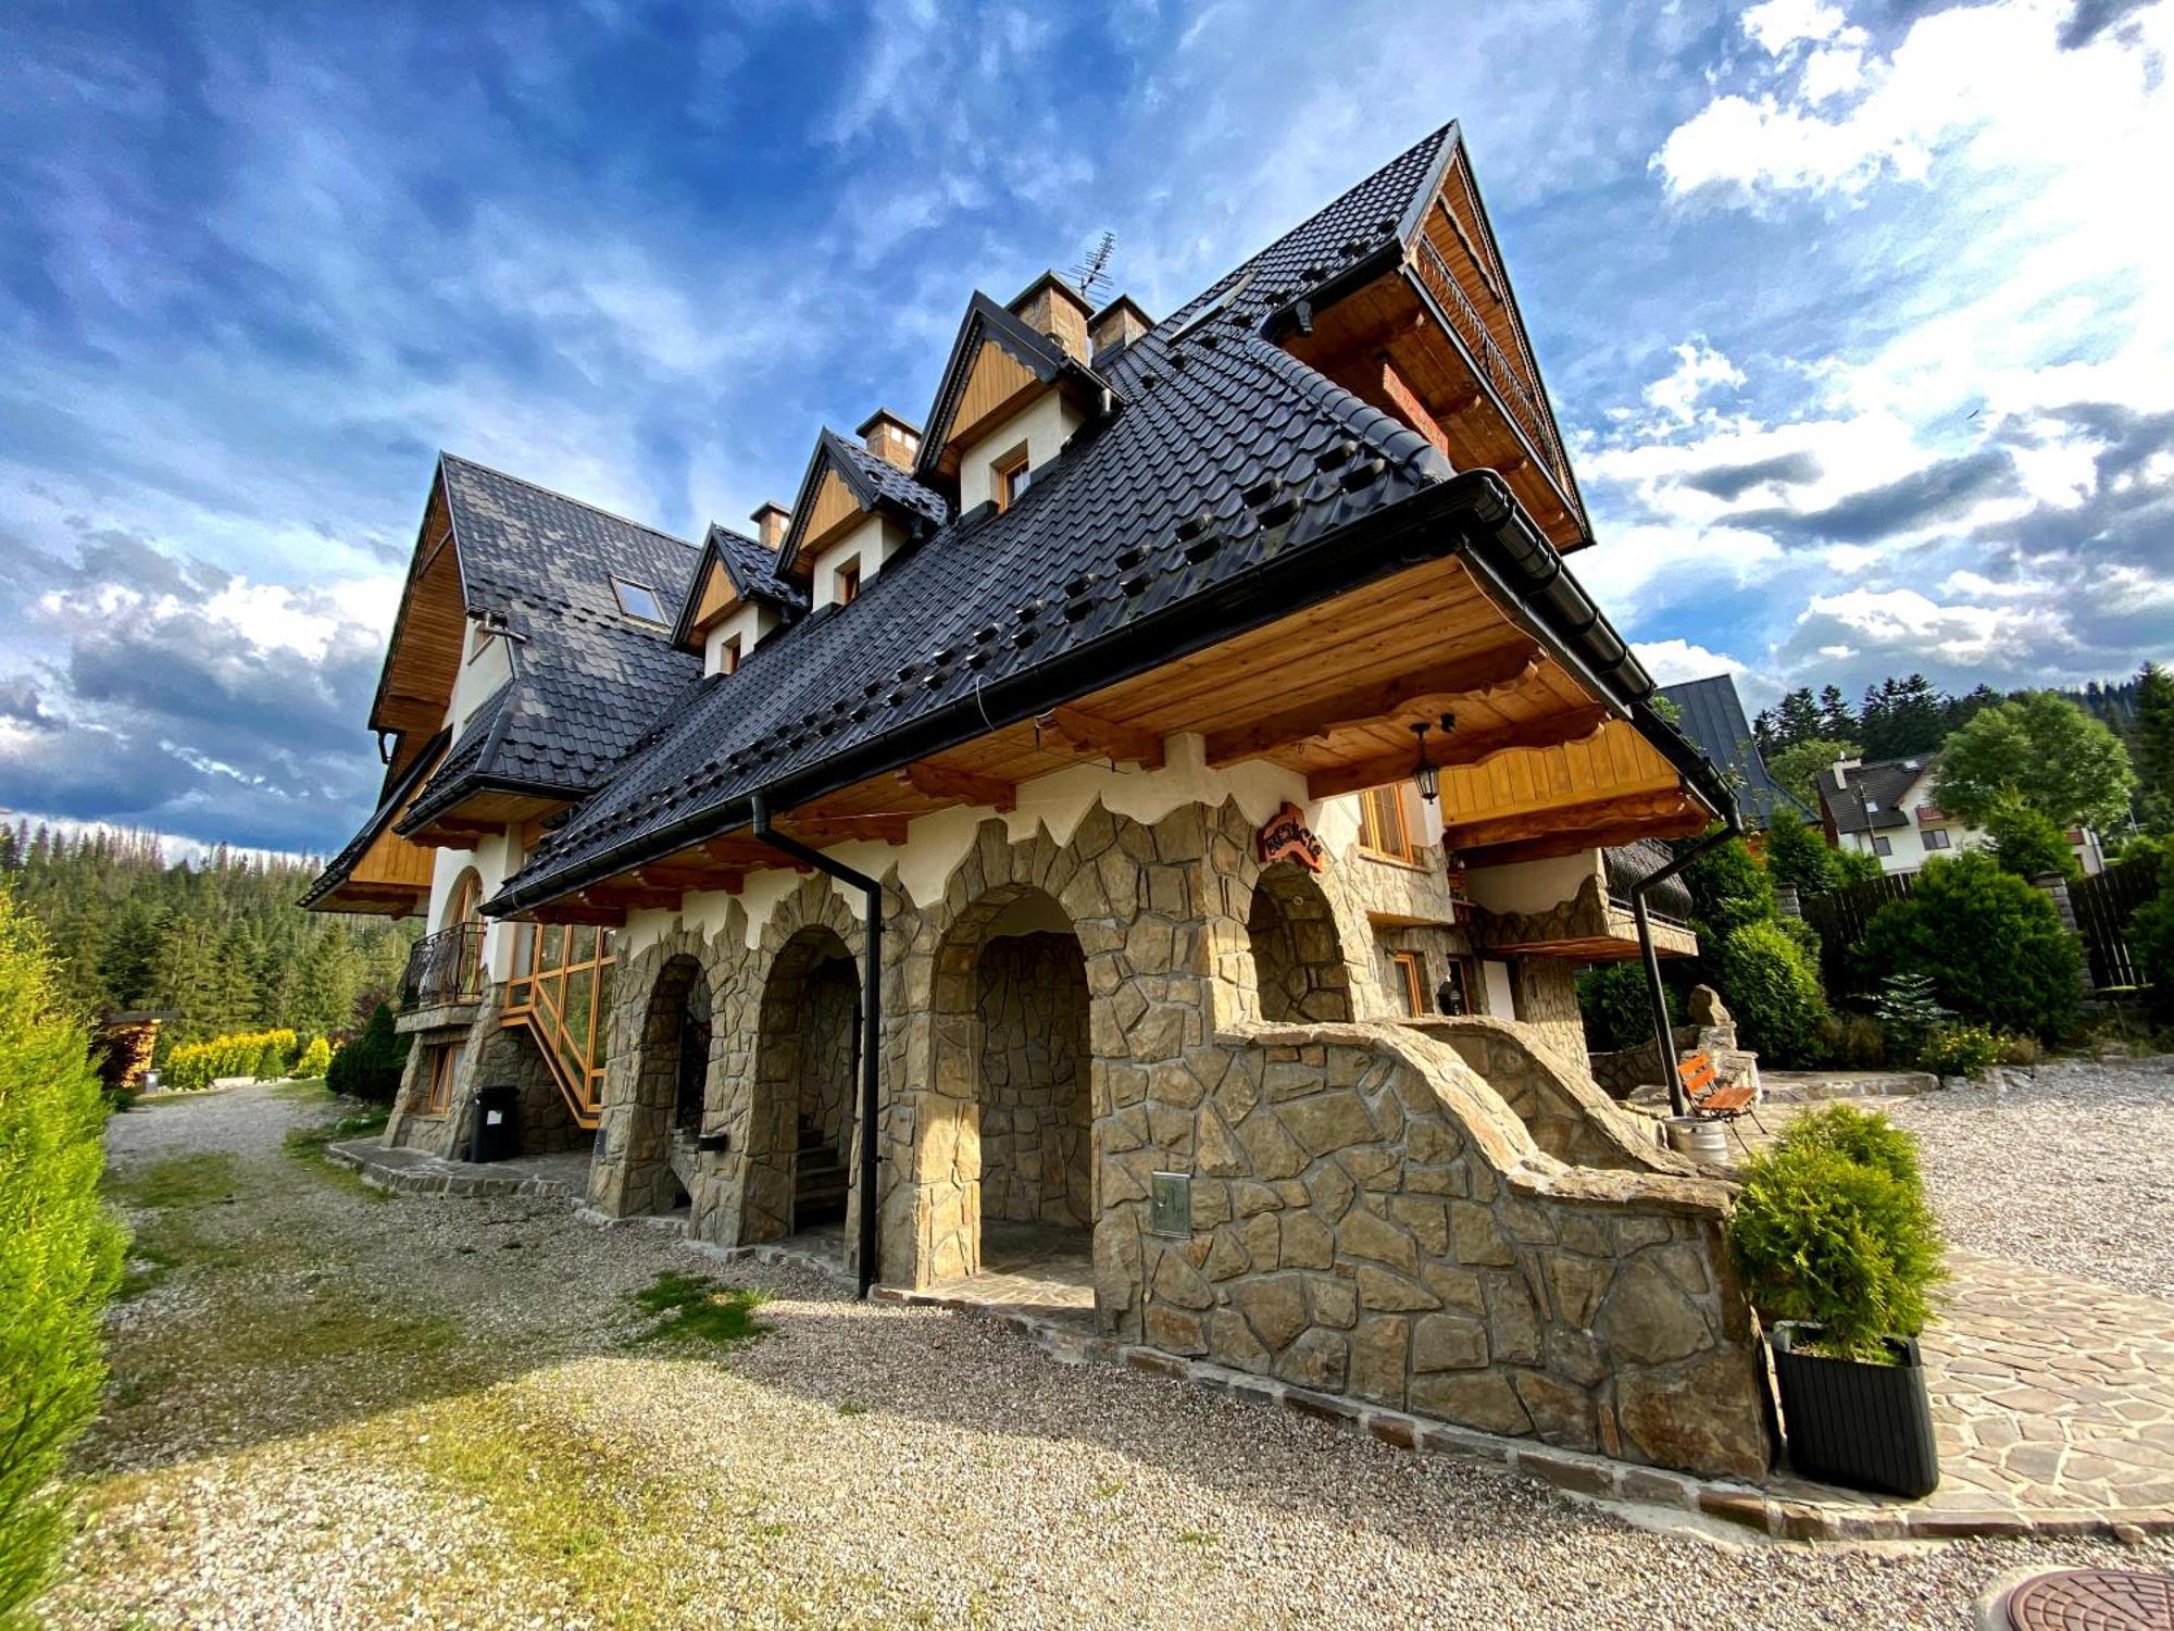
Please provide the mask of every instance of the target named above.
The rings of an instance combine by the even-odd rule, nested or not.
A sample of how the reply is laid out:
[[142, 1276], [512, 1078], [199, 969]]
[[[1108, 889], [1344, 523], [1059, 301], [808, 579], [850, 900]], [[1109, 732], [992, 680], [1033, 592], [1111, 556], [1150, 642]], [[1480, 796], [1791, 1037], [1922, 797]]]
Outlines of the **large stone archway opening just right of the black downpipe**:
[[[957, 1229], [935, 1277], [1091, 1281], [1096, 1205], [1087, 959], [1063, 907], [1011, 887], [937, 950], [937, 1092], [924, 1161], [950, 1153]], [[941, 1174], [939, 1174], [941, 1176]]]

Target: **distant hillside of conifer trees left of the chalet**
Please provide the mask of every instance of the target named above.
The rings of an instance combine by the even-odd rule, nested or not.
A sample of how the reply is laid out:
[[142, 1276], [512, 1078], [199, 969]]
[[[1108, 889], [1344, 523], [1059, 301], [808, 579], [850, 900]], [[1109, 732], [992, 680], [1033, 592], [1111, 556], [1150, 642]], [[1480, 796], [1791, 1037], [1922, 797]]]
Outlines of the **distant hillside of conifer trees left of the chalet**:
[[43, 926], [83, 1016], [174, 1016], [161, 1053], [235, 1031], [343, 1037], [396, 992], [415, 924], [313, 916], [309, 859], [211, 850], [167, 861], [146, 833], [0, 826], [0, 887]]

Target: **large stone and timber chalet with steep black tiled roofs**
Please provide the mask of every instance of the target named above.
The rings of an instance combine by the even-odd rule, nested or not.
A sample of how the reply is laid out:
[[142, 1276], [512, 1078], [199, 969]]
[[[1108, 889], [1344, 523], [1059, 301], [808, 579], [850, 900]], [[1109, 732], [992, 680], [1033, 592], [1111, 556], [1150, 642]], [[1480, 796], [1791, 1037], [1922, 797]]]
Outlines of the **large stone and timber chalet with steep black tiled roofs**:
[[1757, 1474], [1726, 1190], [1585, 1072], [1733, 816], [1591, 544], [1454, 126], [1161, 320], [974, 294], [750, 533], [448, 455], [309, 900], [430, 924], [385, 1137], [500, 1087], [598, 1213]]

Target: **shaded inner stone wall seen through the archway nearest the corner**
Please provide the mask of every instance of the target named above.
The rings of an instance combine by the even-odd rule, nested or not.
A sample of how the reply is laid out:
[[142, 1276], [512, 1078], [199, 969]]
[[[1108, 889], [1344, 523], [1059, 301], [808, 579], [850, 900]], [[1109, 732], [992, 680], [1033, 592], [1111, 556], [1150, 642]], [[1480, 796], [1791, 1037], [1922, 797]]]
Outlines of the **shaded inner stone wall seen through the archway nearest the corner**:
[[980, 1216], [1094, 1227], [1087, 963], [1072, 935], [980, 955]]

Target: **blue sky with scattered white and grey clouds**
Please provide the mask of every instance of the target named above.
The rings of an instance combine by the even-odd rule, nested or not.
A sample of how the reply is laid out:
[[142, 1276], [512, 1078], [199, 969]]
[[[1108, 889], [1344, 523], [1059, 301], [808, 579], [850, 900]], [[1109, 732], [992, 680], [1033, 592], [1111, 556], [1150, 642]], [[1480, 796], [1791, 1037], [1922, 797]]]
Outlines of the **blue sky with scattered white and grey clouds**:
[[1459, 117], [1663, 678], [2174, 655], [2174, 7], [17, 7], [0, 807], [330, 848], [437, 448], [700, 537]]

